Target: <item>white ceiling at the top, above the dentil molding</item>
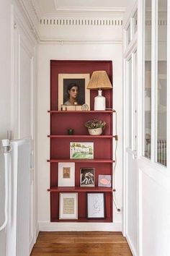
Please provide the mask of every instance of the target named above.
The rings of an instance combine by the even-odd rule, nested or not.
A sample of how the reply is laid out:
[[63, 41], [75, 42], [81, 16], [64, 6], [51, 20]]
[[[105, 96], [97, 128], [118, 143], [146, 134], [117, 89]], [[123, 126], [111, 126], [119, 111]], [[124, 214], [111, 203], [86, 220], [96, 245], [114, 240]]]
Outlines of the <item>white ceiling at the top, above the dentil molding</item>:
[[31, 0], [37, 17], [62, 14], [99, 14], [125, 11], [128, 0]]

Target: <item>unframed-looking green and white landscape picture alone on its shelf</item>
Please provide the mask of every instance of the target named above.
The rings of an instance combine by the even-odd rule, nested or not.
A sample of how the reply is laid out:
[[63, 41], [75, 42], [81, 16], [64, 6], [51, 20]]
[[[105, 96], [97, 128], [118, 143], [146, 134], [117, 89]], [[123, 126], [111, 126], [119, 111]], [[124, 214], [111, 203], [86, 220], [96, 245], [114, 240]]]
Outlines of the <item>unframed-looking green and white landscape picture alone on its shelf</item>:
[[71, 159], [93, 159], [94, 142], [70, 142]]

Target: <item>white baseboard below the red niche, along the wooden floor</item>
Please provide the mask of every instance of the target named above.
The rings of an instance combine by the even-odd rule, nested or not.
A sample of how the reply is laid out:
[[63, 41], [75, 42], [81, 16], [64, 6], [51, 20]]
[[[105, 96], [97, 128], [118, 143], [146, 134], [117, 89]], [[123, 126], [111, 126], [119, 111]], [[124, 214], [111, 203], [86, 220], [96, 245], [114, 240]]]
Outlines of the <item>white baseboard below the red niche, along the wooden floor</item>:
[[122, 223], [54, 223], [40, 221], [39, 231], [122, 231]]

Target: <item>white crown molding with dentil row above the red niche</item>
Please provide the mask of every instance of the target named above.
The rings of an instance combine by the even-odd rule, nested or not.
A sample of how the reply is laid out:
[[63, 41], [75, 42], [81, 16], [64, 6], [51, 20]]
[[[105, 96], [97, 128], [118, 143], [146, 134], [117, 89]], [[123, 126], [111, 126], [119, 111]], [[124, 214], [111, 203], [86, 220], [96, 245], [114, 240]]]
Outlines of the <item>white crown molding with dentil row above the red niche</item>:
[[[95, 17], [61, 15], [61, 17], [45, 16], [40, 18], [39, 10], [37, 12], [37, 7], [32, 5], [33, 0], [14, 1], [30, 27], [30, 33], [38, 43], [122, 43], [122, 14], [106, 15], [106, 17], [104, 15]], [[102, 36], [98, 40], [99, 33], [103, 34], [105, 27], [107, 27], [106, 38]], [[74, 33], [71, 33], [70, 28], [74, 29]], [[91, 29], [91, 33], [89, 33], [89, 29]], [[98, 32], [96, 33], [96, 31]], [[68, 35], [71, 37], [69, 38]]]

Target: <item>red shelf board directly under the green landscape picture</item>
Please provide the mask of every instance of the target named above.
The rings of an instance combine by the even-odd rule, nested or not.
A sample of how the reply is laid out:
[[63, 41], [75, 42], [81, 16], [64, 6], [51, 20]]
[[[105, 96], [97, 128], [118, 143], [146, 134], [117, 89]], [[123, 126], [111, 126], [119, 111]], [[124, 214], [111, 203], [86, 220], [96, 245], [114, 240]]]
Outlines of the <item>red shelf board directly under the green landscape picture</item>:
[[59, 162], [75, 162], [75, 163], [115, 163], [112, 159], [48, 159], [50, 163], [59, 163]]

